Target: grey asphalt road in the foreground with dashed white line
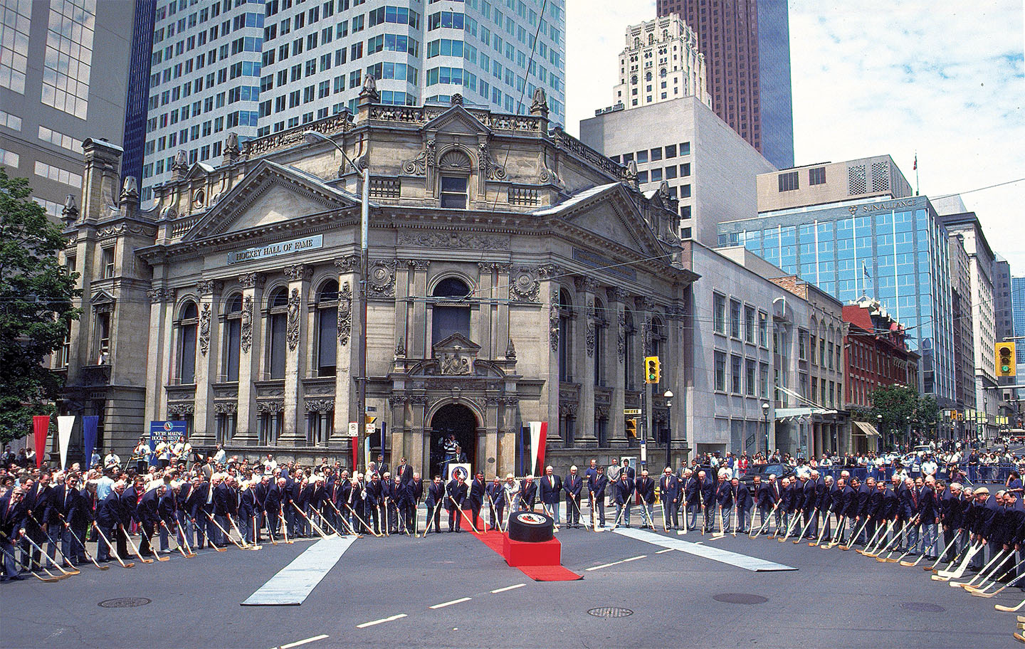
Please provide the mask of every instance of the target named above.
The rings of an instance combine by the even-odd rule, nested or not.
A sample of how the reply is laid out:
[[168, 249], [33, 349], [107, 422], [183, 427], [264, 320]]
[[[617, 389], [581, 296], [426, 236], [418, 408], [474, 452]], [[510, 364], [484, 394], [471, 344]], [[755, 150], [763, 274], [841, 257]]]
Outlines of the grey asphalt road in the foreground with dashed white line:
[[[702, 540], [693, 532], [670, 534]], [[0, 647], [266, 648], [321, 636], [326, 638], [301, 646], [1017, 646], [1011, 637], [1015, 614], [993, 605], [1018, 604], [1025, 597], [1018, 589], [975, 598], [930, 580], [919, 568], [764, 537], [706, 536], [704, 542], [799, 569], [750, 572], [611, 532], [562, 530], [557, 537], [563, 564], [583, 574], [582, 580], [532, 581], [465, 532], [366, 537], [301, 606], [290, 607], [240, 602], [312, 540], [258, 552], [204, 551], [188, 560], [173, 555], [130, 570], [83, 567], [57, 583], [0, 585]], [[626, 559], [632, 560], [616, 563]], [[604, 567], [587, 570], [598, 566]], [[722, 594], [766, 601], [713, 599]], [[113, 598], [151, 603], [97, 605]], [[469, 599], [437, 606], [462, 598]], [[588, 614], [598, 607], [632, 614]]]

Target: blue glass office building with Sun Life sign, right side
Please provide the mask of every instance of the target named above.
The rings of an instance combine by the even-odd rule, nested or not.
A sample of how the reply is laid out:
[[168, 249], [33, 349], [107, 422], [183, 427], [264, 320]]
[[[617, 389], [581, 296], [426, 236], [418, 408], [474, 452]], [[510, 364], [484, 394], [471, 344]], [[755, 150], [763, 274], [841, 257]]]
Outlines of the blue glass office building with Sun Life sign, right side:
[[843, 302], [878, 299], [921, 355], [919, 390], [941, 404], [953, 398], [947, 232], [927, 197], [762, 212], [720, 224], [719, 243], [743, 245]]

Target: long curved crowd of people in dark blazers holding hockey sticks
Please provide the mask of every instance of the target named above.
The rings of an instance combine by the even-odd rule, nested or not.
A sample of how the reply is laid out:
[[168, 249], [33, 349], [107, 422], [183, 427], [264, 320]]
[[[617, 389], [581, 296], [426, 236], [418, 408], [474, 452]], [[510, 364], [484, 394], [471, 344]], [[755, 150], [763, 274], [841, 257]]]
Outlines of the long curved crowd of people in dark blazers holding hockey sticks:
[[[976, 569], [1002, 555], [999, 567], [1007, 564], [1001, 575], [1007, 572], [1008, 578], [1015, 576], [1014, 554], [1025, 540], [1017, 476], [1007, 489], [990, 494], [985, 487], [944, 485], [933, 476], [862, 483], [848, 472], [833, 480], [815, 470], [779, 480], [754, 476], [751, 486], [727, 469], [698, 467], [679, 473], [665, 468], [656, 480], [615, 459], [608, 468], [590, 460], [582, 473], [572, 467], [565, 477], [547, 467], [536, 478], [488, 481], [482, 473], [455, 472], [447, 482], [434, 476], [426, 484], [405, 458], [394, 472], [381, 457], [355, 475], [326, 462], [302, 468], [222, 464], [214, 458], [188, 471], [183, 464], [144, 469], [112, 465], [84, 475], [77, 465], [53, 473], [0, 470], [2, 578], [20, 579], [27, 572], [43, 578], [87, 561], [126, 565], [132, 556], [165, 560], [159, 555], [172, 552], [171, 539], [175, 551], [191, 556], [204, 545], [255, 549], [264, 538], [277, 543], [331, 533], [423, 536], [480, 531], [482, 513], [491, 528], [501, 529], [511, 513], [523, 510], [544, 512], [562, 528], [629, 527], [637, 514], [641, 526], [666, 532], [752, 538], [771, 533], [937, 562], [965, 557]], [[614, 506], [608, 515], [607, 501]], [[90, 540], [96, 543], [94, 556], [87, 549]], [[979, 551], [983, 546], [986, 552]]]

